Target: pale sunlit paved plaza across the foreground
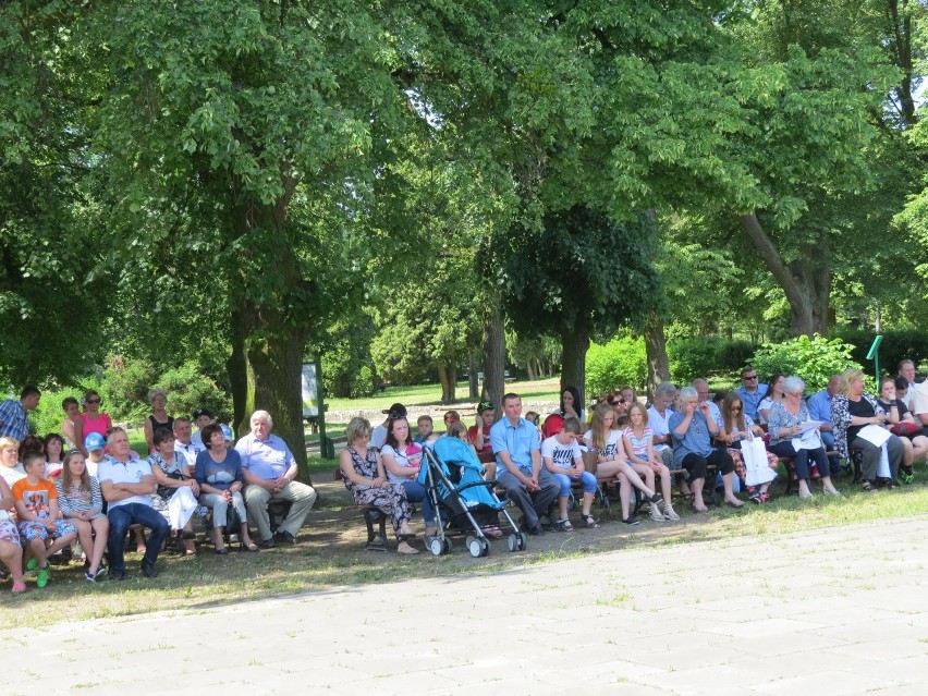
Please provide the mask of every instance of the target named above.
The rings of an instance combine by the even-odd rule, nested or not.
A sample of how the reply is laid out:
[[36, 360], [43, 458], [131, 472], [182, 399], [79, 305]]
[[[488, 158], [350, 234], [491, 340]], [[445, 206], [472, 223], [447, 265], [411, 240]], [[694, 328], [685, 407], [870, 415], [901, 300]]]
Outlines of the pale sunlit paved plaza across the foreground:
[[926, 564], [921, 515], [2, 631], [3, 692], [924, 696]]

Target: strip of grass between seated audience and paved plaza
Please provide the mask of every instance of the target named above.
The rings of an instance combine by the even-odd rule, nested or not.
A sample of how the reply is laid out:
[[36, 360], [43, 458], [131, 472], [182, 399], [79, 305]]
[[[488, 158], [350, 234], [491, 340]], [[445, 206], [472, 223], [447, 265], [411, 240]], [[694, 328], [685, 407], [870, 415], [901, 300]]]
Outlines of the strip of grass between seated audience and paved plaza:
[[[774, 498], [756, 508], [748, 503], [742, 510], [712, 509], [695, 514], [683, 501], [674, 500], [683, 520], [675, 524], [658, 524], [643, 517], [642, 525], [628, 528], [619, 524], [619, 506], [595, 508], [601, 516], [600, 529], [579, 529], [569, 534], [530, 537], [526, 551], [510, 553], [505, 541], [496, 541], [490, 555], [472, 559], [460, 538], [454, 539], [450, 555], [400, 557], [364, 550], [366, 533], [357, 511], [344, 510], [351, 500], [341, 484], [332, 483], [331, 462], [315, 457], [314, 480], [320, 489], [320, 504], [303, 529], [300, 545], [260, 553], [231, 553], [217, 557], [205, 544], [199, 555], [180, 558], [162, 553], [158, 561], [160, 577], [147, 581], [138, 575], [141, 557], [126, 554], [126, 582], [101, 581], [90, 585], [83, 581], [77, 563], [54, 567], [45, 589], [27, 579], [29, 591], [22, 596], [10, 593], [9, 578], [0, 583], [3, 596], [0, 621], [7, 627], [46, 627], [61, 621], [99, 616], [146, 613], [166, 609], [206, 610], [218, 605], [249, 599], [328, 590], [334, 587], [386, 584], [410, 577], [441, 577], [455, 574], [481, 575], [564, 558], [636, 547], [698, 544], [731, 537], [762, 537], [810, 528], [862, 524], [876, 520], [928, 514], [928, 467], [916, 467], [916, 483], [894, 491], [858, 492], [850, 479], [839, 481], [845, 493], [840, 499], [816, 496], [811, 501], [783, 498], [781, 483], [774, 484]], [[419, 530], [422, 522], [414, 520]], [[388, 524], [389, 528], [389, 524]]]

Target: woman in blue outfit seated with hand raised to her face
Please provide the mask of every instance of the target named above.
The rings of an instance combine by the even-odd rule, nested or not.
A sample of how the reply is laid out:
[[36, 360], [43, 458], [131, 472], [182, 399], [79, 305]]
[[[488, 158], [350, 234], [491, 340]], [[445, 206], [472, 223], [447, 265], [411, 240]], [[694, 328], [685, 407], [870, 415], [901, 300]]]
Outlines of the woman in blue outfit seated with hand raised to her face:
[[744, 505], [735, 498], [734, 462], [725, 450], [712, 447], [712, 438], [718, 437], [719, 426], [709, 416], [709, 405], [699, 404], [699, 394], [693, 387], [680, 390], [677, 408], [668, 423], [673, 438], [673, 461], [679, 468], [689, 474], [689, 489], [693, 493], [693, 509], [706, 512], [703, 501], [703, 485], [709, 464], [716, 466], [722, 474], [722, 485], [725, 488], [725, 502], [732, 508]]

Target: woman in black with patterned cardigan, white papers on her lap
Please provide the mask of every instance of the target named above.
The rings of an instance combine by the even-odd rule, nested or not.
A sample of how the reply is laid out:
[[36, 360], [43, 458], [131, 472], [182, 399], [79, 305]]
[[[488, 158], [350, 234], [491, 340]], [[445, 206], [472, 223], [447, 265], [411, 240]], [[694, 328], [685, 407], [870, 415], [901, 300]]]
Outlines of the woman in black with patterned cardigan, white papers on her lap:
[[[859, 369], [848, 369], [841, 375], [838, 393], [831, 400], [831, 423], [834, 425], [834, 442], [838, 452], [844, 459], [850, 459], [853, 452], [860, 452], [860, 477], [865, 492], [876, 490], [877, 469], [883, 445], [877, 445], [860, 431], [868, 425], [883, 426], [887, 414], [877, 403], [872, 394], [864, 391], [864, 373]], [[903, 444], [900, 439], [890, 435], [883, 443], [890, 465], [890, 480], [895, 478], [902, 462]], [[890, 484], [892, 488], [892, 484]]]

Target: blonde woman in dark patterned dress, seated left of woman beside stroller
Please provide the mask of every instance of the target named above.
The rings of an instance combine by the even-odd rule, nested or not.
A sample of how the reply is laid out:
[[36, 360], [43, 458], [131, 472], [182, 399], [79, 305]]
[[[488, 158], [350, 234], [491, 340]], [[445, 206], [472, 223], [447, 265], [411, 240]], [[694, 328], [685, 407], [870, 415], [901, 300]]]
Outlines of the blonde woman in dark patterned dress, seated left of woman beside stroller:
[[406, 541], [416, 536], [410, 529], [413, 511], [406, 500], [406, 490], [387, 480], [380, 454], [367, 447], [370, 423], [365, 418], [352, 418], [345, 429], [345, 438], [349, 445], [339, 454], [339, 468], [355, 504], [374, 505], [390, 517], [399, 541], [398, 552], [406, 555], [418, 553]]

